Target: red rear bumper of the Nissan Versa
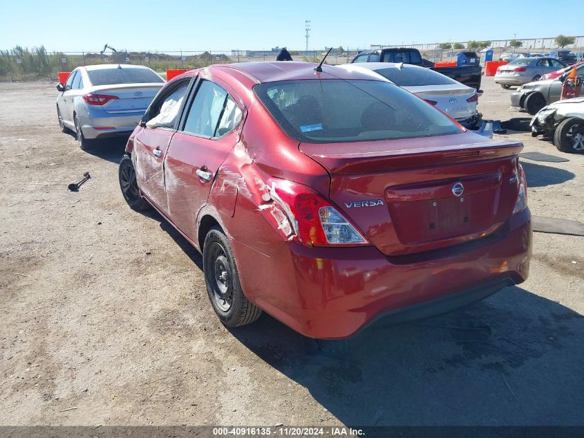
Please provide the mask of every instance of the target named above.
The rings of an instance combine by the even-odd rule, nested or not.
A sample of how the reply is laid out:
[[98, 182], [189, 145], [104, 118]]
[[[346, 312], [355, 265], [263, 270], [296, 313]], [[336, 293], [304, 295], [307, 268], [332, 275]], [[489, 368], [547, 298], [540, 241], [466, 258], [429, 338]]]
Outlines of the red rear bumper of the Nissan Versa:
[[346, 338], [390, 322], [451, 311], [527, 278], [531, 221], [525, 209], [494, 235], [417, 255], [387, 257], [374, 246], [287, 244], [273, 257], [234, 242], [247, 297], [312, 338]]

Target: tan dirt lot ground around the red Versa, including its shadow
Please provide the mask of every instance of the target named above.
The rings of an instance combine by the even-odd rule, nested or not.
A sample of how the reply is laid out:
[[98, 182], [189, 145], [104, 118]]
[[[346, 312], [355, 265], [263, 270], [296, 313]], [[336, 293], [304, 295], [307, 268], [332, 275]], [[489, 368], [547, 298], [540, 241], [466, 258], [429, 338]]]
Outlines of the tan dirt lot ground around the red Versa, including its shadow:
[[[492, 78], [483, 89], [485, 117], [525, 116]], [[535, 233], [524, 284], [307, 355], [269, 316], [220, 325], [200, 255], [124, 203], [124, 144], [82, 152], [56, 93], [0, 84], [0, 425], [584, 424], [584, 237]], [[584, 222], [584, 156], [508, 136], [569, 158], [523, 160], [531, 212]], [[490, 338], [444, 328], [463, 320]]]

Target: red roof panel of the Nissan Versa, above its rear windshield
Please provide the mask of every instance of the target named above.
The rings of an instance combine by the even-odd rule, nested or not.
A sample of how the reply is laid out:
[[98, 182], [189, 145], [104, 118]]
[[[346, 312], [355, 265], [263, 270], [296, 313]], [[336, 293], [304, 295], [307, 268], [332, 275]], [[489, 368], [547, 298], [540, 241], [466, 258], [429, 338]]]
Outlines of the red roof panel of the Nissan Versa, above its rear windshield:
[[217, 67], [236, 69], [256, 79], [256, 82], [276, 82], [281, 80], [303, 79], [368, 79], [382, 80], [362, 71], [337, 69], [335, 66], [323, 65], [321, 73], [314, 71], [317, 64], [312, 62], [238, 62], [220, 64]]

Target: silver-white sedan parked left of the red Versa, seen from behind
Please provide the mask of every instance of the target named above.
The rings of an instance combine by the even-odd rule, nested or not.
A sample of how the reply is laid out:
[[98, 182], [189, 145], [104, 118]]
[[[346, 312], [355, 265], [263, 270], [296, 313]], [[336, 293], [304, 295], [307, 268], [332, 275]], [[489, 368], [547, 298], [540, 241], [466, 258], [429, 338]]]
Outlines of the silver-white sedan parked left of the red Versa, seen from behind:
[[162, 77], [144, 66], [77, 67], [57, 84], [59, 127], [75, 131], [81, 149], [95, 138], [129, 136], [162, 85]]

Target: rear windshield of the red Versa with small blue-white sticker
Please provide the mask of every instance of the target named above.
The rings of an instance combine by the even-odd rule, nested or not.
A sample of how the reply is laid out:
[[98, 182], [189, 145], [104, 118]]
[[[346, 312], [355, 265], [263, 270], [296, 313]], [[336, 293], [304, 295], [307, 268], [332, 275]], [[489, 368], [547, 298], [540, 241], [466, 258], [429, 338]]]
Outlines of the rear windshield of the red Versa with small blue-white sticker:
[[373, 80], [291, 80], [254, 86], [288, 136], [343, 143], [458, 134], [460, 127], [415, 95]]

